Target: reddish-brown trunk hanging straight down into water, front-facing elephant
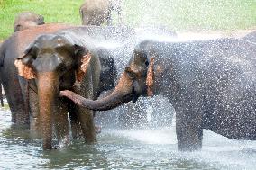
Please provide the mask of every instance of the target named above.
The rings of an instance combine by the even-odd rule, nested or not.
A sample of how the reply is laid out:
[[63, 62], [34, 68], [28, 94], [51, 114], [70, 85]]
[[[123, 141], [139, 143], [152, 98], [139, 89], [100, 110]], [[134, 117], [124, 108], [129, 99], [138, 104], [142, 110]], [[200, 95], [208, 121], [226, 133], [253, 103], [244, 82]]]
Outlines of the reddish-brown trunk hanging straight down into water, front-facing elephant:
[[41, 135], [43, 149], [51, 148], [52, 140], [52, 112], [56, 105], [55, 98], [59, 92], [59, 76], [45, 72], [38, 74], [39, 112], [41, 121]]

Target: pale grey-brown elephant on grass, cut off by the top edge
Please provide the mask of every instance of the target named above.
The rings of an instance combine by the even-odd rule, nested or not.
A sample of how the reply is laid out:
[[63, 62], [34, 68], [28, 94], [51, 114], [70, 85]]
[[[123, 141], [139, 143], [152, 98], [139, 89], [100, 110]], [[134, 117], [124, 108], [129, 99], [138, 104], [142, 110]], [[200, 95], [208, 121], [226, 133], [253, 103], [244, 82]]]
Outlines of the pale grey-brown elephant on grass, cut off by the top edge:
[[112, 24], [112, 11], [118, 14], [118, 23], [121, 18], [121, 0], [87, 0], [80, 7], [80, 16], [83, 25], [101, 25], [106, 22]]

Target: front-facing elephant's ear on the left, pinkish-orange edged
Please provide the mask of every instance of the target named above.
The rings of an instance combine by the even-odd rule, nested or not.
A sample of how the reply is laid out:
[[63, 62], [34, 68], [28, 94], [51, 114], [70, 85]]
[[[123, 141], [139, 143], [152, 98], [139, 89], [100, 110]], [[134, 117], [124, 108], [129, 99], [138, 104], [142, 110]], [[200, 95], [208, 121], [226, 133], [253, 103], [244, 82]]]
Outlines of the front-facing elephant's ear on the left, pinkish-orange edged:
[[25, 50], [25, 52], [14, 61], [15, 67], [18, 69], [18, 74], [26, 79], [36, 78], [36, 74], [32, 69], [32, 46]]

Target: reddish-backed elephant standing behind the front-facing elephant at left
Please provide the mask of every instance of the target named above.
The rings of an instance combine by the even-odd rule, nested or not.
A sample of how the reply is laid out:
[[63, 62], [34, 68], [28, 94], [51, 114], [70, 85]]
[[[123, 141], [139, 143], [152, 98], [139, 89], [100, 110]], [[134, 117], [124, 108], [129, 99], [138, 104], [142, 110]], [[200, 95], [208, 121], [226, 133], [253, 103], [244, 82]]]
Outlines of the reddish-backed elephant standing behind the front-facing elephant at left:
[[30, 122], [28, 105], [24, 100], [25, 88], [20, 85], [21, 82], [14, 66], [15, 58], [21, 56], [25, 48], [41, 33], [50, 33], [71, 27], [71, 25], [60, 23], [39, 25], [30, 30], [15, 32], [1, 45], [0, 77], [14, 124], [28, 126]]

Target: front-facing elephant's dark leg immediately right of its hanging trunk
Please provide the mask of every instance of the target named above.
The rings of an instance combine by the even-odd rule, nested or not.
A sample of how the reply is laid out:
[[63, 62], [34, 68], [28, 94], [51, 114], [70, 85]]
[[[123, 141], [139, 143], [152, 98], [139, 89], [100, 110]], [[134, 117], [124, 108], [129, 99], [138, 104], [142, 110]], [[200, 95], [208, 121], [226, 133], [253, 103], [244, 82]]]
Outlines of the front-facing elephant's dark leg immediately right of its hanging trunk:
[[69, 144], [69, 120], [68, 105], [63, 101], [59, 102], [59, 109], [54, 112], [54, 125], [59, 144]]

